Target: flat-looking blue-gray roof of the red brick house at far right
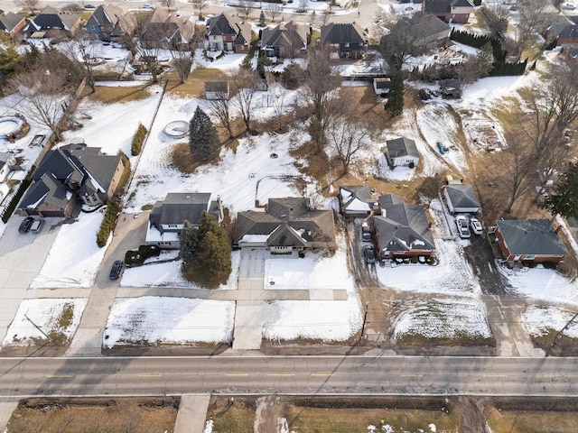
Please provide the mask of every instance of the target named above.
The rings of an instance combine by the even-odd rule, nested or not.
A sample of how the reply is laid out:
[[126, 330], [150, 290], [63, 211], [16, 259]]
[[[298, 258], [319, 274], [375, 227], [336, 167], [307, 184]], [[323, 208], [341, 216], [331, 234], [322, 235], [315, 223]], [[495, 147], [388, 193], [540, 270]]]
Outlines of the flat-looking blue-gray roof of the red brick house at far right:
[[496, 221], [504, 243], [514, 255], [564, 255], [564, 244], [549, 219]]

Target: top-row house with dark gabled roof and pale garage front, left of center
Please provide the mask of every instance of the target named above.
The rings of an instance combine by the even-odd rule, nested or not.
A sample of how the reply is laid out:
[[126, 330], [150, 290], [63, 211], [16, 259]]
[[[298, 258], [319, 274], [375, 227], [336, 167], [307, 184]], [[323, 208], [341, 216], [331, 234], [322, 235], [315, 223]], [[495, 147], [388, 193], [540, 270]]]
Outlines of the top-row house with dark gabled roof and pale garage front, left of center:
[[246, 54], [251, 45], [251, 24], [238, 16], [220, 14], [207, 20], [205, 39], [210, 51], [235, 51]]

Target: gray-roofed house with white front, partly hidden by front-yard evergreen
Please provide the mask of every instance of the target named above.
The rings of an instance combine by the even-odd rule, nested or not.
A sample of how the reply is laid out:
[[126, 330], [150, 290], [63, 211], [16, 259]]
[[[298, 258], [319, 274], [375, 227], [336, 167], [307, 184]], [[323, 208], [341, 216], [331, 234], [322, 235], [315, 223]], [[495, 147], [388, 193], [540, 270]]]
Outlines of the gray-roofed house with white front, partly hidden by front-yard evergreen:
[[219, 224], [223, 220], [220, 198], [210, 199], [210, 193], [169, 193], [157, 201], [148, 217], [145, 242], [163, 249], [181, 248], [180, 235], [184, 221], [198, 226], [203, 213], [207, 212]]

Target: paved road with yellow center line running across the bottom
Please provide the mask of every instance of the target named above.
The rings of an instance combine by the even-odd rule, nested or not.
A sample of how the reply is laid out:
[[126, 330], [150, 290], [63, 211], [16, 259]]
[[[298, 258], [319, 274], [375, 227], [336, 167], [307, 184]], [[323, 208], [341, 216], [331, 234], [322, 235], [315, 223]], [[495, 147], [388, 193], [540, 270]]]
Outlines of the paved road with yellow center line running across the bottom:
[[0, 358], [0, 396], [188, 392], [576, 396], [578, 358]]

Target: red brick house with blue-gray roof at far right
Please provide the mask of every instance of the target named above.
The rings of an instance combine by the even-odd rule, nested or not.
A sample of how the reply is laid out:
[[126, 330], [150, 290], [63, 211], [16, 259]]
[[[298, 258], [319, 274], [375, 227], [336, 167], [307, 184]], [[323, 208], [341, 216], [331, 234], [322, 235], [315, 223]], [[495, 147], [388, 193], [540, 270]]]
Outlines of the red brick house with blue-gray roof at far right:
[[568, 253], [549, 219], [496, 221], [494, 235], [508, 262], [560, 263]]

